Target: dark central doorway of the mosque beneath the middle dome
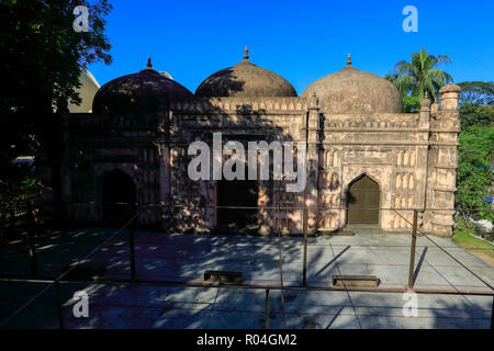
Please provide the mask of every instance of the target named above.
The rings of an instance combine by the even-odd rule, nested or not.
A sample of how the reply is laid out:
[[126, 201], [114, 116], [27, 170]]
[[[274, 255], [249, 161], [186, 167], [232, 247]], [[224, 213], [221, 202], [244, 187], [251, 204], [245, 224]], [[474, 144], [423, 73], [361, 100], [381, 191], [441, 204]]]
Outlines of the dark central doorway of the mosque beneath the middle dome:
[[[246, 167], [247, 174], [247, 167]], [[258, 204], [257, 180], [220, 180], [216, 186], [217, 206], [256, 207]], [[218, 228], [257, 229], [257, 210], [217, 208]]]

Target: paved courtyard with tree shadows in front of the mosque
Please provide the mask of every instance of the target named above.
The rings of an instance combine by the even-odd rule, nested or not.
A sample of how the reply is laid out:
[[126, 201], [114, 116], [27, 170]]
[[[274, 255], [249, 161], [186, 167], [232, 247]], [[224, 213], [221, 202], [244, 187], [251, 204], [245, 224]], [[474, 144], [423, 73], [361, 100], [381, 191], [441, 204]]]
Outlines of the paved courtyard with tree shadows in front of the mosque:
[[[111, 235], [110, 229], [85, 229], [38, 241], [41, 276], [55, 276], [72, 258], [83, 257]], [[494, 284], [494, 269], [449, 239], [433, 239], [454, 258]], [[302, 238], [282, 240], [284, 285], [302, 281]], [[308, 239], [307, 283], [330, 286], [334, 274], [373, 274], [380, 287], [403, 287], [408, 279], [408, 235], [357, 235]], [[24, 251], [23, 251], [24, 250]], [[242, 271], [244, 283], [279, 285], [276, 237], [167, 235], [135, 233], [138, 280], [203, 282], [204, 270]], [[417, 239], [415, 287], [483, 291], [490, 287], [425, 237]], [[106, 268], [104, 278], [130, 278], [127, 233], [122, 231], [88, 261]], [[22, 242], [1, 251], [0, 272], [27, 272]], [[0, 319], [41, 291], [42, 283], [0, 282]], [[75, 318], [76, 291], [89, 294], [89, 318]], [[262, 328], [265, 290], [142, 286], [64, 283], [60, 295], [67, 328]], [[284, 290], [284, 319], [289, 328], [489, 328], [493, 297], [418, 295], [418, 316], [403, 316], [401, 293]], [[11, 328], [57, 328], [50, 288], [16, 317]], [[281, 292], [270, 292], [270, 326], [281, 328]]]

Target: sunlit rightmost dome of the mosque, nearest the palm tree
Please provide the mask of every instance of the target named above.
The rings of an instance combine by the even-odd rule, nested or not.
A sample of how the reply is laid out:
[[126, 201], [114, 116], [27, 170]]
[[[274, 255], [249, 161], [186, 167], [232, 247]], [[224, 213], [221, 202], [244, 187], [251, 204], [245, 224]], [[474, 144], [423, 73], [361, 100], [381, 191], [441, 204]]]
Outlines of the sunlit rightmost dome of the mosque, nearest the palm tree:
[[347, 66], [336, 73], [323, 77], [308, 86], [302, 97], [316, 94], [328, 113], [402, 113], [402, 97], [390, 81], [382, 77]]

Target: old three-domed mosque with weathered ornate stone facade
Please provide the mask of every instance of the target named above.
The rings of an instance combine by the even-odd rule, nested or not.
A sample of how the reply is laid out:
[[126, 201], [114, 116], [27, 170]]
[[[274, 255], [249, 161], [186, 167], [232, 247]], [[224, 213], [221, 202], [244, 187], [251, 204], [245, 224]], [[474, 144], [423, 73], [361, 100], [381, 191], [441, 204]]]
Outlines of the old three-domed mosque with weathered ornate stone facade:
[[[447, 84], [440, 105], [426, 97], [418, 113], [404, 113], [391, 82], [355, 68], [350, 55], [343, 66], [301, 95], [255, 65], [247, 48], [195, 93], [150, 59], [101, 88], [92, 82], [92, 105], [60, 114], [57, 166], [37, 156], [44, 208], [79, 224], [139, 211], [143, 227], [243, 225], [260, 234], [302, 233], [305, 206], [311, 234], [359, 226], [409, 233], [415, 208], [420, 230], [451, 236], [460, 88]], [[305, 141], [304, 191], [287, 192], [284, 179], [191, 180], [188, 147], [211, 144], [215, 132], [243, 144]], [[133, 205], [123, 211], [119, 203]]]

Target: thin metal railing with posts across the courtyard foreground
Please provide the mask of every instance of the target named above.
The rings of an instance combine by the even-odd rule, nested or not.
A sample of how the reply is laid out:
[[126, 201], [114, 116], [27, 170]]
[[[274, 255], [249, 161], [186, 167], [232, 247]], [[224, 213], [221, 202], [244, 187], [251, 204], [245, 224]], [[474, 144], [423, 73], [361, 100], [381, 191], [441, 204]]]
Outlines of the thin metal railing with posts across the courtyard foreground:
[[[128, 206], [130, 204], [119, 204], [122, 206]], [[134, 204], [132, 204], [134, 206]], [[408, 276], [407, 276], [407, 284], [403, 287], [359, 287], [359, 286], [349, 286], [343, 282], [341, 286], [316, 286], [316, 285], [310, 285], [307, 284], [307, 241], [308, 241], [308, 214], [310, 211], [319, 211], [318, 208], [307, 208], [307, 207], [300, 207], [300, 208], [293, 208], [290, 207], [290, 211], [299, 210], [303, 213], [303, 238], [302, 238], [302, 245], [303, 245], [303, 261], [302, 265], [300, 267], [300, 270], [302, 271], [302, 280], [299, 283], [284, 283], [283, 282], [283, 263], [282, 263], [282, 230], [277, 230], [276, 235], [278, 236], [278, 259], [279, 259], [279, 284], [243, 284], [243, 283], [229, 283], [222, 281], [222, 278], [220, 278], [218, 281], [215, 282], [183, 282], [183, 281], [176, 281], [176, 280], [169, 280], [169, 279], [162, 279], [162, 280], [149, 280], [149, 279], [142, 279], [136, 273], [136, 253], [135, 253], [135, 224], [136, 219], [139, 217], [139, 215], [143, 214], [143, 212], [148, 211], [150, 206], [160, 206], [159, 204], [153, 204], [153, 205], [138, 205], [137, 204], [137, 211], [135, 214], [126, 220], [119, 229], [116, 229], [112, 235], [110, 235], [108, 238], [104, 239], [103, 242], [92, 248], [87, 254], [75, 258], [77, 259], [76, 264], [68, 267], [61, 274], [55, 276], [55, 278], [44, 278], [38, 274], [38, 262], [36, 260], [36, 238], [35, 234], [36, 230], [38, 230], [38, 224], [34, 218], [34, 213], [32, 211], [25, 211], [24, 215], [26, 216], [26, 223], [29, 224], [27, 228], [27, 260], [30, 263], [30, 274], [27, 276], [21, 276], [21, 275], [12, 275], [12, 274], [3, 274], [3, 276], [0, 278], [0, 282], [10, 282], [10, 283], [33, 283], [33, 284], [43, 284], [44, 287], [38, 291], [37, 293], [33, 294], [29, 301], [24, 302], [20, 307], [18, 307], [14, 312], [10, 313], [8, 316], [3, 318], [3, 320], [0, 321], [1, 327], [8, 327], [9, 321], [21, 314], [23, 310], [25, 310], [27, 307], [32, 306], [34, 303], [38, 302], [41, 297], [46, 294], [49, 291], [53, 291], [54, 293], [54, 301], [53, 303], [53, 309], [56, 312], [57, 318], [58, 318], [58, 327], [65, 328], [66, 324], [64, 321], [64, 314], [63, 314], [63, 302], [60, 299], [60, 285], [64, 284], [103, 284], [103, 285], [131, 285], [131, 286], [187, 286], [187, 287], [197, 287], [197, 288], [203, 288], [203, 287], [222, 287], [222, 288], [240, 288], [240, 290], [262, 290], [266, 293], [266, 299], [265, 299], [265, 327], [270, 327], [270, 292], [271, 291], [279, 291], [281, 294], [281, 313], [283, 317], [282, 326], [285, 327], [285, 319], [284, 319], [284, 299], [283, 299], [283, 292], [284, 291], [291, 291], [291, 290], [302, 290], [302, 291], [319, 291], [319, 292], [367, 292], [367, 293], [405, 293], [405, 292], [415, 292], [417, 294], [437, 294], [437, 295], [463, 295], [463, 296], [493, 296], [493, 305], [494, 305], [494, 287], [490, 284], [490, 282], [486, 282], [482, 276], [473, 272], [467, 264], [463, 264], [461, 260], [457, 259], [454, 254], [449, 252], [446, 248], [441, 247], [438, 242], [436, 242], [435, 238], [431, 238], [426, 233], [422, 231], [418, 227], [418, 212], [417, 210], [411, 210], [411, 208], [379, 208], [380, 211], [391, 211], [398, 215], [401, 219], [406, 222], [406, 224], [409, 226], [409, 237], [411, 237], [411, 244], [409, 244], [409, 263], [408, 263]], [[221, 206], [217, 206], [220, 208]], [[247, 208], [256, 208], [256, 210], [266, 210], [266, 211], [273, 211], [278, 212], [282, 210], [282, 207], [235, 207], [235, 206], [223, 206], [224, 208], [235, 208], [238, 211], [244, 211]], [[348, 210], [345, 207], [341, 208], [332, 208], [332, 210]], [[375, 208], [372, 208], [375, 210]], [[439, 211], [439, 210], [434, 210]], [[475, 210], [470, 210], [475, 211]], [[481, 210], [486, 211], [486, 210]], [[489, 210], [487, 210], [489, 211]], [[409, 212], [412, 213], [412, 220], [409, 220], [409, 216], [403, 215], [403, 212]], [[77, 270], [80, 267], [83, 267], [85, 262], [88, 261], [91, 257], [96, 254], [96, 252], [100, 251], [102, 248], [105, 247], [111, 240], [126, 236], [127, 242], [128, 242], [128, 262], [130, 262], [130, 273], [126, 279], [112, 279], [112, 278], [98, 278], [97, 280], [90, 279], [90, 278], [74, 278], [70, 276], [75, 270]], [[468, 291], [468, 290], [445, 290], [445, 288], [417, 288], [414, 287], [414, 272], [416, 270], [416, 262], [415, 262], [415, 250], [416, 250], [416, 240], [417, 237], [422, 236], [425, 237], [428, 241], [430, 241], [435, 247], [437, 247], [439, 250], [441, 250], [444, 253], [446, 253], [448, 257], [451, 258], [454, 262], [457, 262], [461, 268], [463, 268], [465, 271], [468, 271], [472, 276], [474, 276], [476, 280], [482, 282], [486, 287], [489, 287], [487, 291]], [[493, 327], [492, 317], [491, 317], [491, 328]]]

